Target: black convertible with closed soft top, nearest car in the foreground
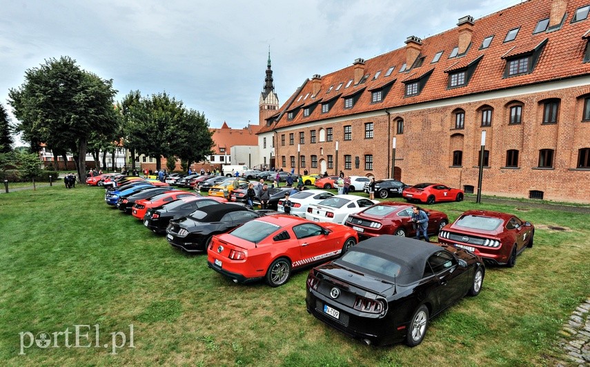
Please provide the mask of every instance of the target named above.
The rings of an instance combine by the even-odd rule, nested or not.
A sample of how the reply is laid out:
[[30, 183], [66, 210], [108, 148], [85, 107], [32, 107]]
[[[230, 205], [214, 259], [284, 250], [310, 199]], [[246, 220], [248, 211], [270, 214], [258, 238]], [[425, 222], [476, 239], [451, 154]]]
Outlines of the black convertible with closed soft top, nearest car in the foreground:
[[366, 344], [417, 346], [429, 320], [478, 295], [482, 259], [451, 246], [381, 235], [360, 242], [307, 278], [309, 313]]

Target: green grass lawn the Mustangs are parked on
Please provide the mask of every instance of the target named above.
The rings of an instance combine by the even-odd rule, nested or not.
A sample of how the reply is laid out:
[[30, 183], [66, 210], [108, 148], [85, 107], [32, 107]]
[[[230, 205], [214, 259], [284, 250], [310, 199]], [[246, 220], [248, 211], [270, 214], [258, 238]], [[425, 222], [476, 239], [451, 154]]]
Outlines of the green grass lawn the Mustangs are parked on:
[[[562, 324], [590, 295], [588, 215], [436, 204], [451, 221], [471, 208], [513, 212], [535, 224], [535, 244], [515, 268], [488, 267], [480, 295], [437, 317], [420, 346], [364, 346], [308, 315], [306, 270], [279, 288], [233, 284], [103, 198], [63, 184], [0, 195], [3, 365], [545, 366], [564, 359]], [[112, 354], [110, 333], [128, 342], [130, 324], [135, 348]], [[56, 334], [58, 348], [19, 355], [19, 333], [54, 337], [75, 325], [90, 325], [79, 344], [91, 348], [66, 348]]]

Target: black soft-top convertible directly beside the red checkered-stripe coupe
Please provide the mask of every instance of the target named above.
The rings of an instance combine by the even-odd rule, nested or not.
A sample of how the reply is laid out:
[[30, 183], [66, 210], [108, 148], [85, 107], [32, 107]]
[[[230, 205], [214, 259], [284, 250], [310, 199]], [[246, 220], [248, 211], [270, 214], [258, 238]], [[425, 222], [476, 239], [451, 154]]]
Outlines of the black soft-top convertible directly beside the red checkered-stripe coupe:
[[275, 213], [273, 210], [254, 211], [232, 204], [206, 206], [186, 217], [170, 220], [166, 228], [166, 239], [170, 245], [186, 252], [204, 252], [213, 235]]

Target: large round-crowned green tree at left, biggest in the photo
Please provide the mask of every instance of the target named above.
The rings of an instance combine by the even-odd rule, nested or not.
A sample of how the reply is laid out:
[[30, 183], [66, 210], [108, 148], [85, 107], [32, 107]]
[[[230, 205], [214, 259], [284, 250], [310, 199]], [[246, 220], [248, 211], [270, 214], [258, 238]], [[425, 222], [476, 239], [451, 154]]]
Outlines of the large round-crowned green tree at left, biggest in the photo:
[[40, 143], [54, 150], [70, 150], [78, 178], [86, 173], [86, 151], [92, 133], [110, 135], [116, 129], [112, 79], [81, 70], [70, 57], [46, 60], [25, 72], [25, 82], [8, 93], [18, 130], [32, 151]]

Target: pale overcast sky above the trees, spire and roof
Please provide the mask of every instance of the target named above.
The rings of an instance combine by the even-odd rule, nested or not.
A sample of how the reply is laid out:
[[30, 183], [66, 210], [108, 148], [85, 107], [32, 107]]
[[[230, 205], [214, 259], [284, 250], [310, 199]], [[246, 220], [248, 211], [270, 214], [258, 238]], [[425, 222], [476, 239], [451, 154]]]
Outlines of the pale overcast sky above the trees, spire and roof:
[[[210, 126], [258, 121], [271, 47], [284, 101], [312, 75], [404, 46], [520, 0], [0, 0], [0, 103], [25, 70], [67, 55], [130, 90], [164, 92]], [[13, 121], [14, 122], [14, 121]]]

